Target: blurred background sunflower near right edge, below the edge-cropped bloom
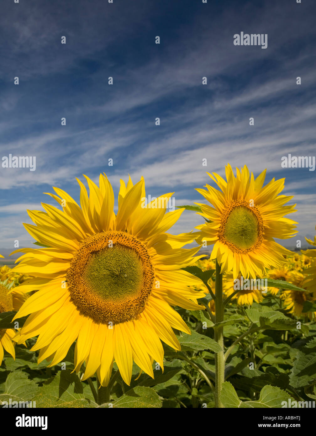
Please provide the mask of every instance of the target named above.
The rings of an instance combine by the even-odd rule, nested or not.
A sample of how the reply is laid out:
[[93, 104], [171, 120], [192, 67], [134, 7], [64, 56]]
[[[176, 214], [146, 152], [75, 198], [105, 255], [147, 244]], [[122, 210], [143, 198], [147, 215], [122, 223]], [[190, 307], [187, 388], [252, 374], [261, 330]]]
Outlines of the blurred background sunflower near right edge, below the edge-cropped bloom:
[[[290, 283], [303, 289], [307, 289], [305, 283], [305, 277], [301, 272], [292, 271], [289, 277]], [[313, 293], [304, 291], [285, 290], [282, 293], [282, 299], [284, 300], [284, 306], [290, 313], [299, 317], [301, 314], [309, 317], [313, 320], [316, 312], [302, 312], [305, 301], [315, 301]]]

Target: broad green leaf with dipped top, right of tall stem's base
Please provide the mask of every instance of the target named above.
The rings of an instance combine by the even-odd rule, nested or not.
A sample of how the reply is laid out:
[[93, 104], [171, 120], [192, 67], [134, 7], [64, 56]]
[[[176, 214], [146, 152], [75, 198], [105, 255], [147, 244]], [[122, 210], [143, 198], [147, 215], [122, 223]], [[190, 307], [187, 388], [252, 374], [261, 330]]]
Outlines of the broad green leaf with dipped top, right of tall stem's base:
[[289, 399], [293, 400], [288, 392], [266, 385], [262, 388], [258, 401], [241, 401], [231, 383], [225, 381], [222, 384], [221, 401], [228, 408], [280, 408], [282, 402], [288, 403]]

